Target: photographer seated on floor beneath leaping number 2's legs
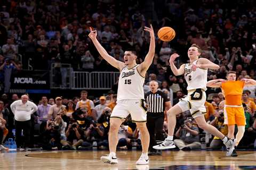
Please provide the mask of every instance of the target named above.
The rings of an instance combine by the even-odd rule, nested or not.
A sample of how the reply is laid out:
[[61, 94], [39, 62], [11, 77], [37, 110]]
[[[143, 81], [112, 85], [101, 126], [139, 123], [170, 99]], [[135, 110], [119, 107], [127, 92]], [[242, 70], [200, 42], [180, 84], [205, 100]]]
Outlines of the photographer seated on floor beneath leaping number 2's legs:
[[190, 119], [186, 120], [175, 133], [180, 139], [175, 139], [174, 143], [181, 150], [201, 149], [199, 130], [192, 122]]

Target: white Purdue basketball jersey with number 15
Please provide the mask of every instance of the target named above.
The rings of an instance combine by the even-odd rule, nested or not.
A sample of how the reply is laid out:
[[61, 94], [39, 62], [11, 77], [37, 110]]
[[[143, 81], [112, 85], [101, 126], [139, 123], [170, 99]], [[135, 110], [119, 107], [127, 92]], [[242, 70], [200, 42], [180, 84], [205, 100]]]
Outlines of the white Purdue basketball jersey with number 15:
[[120, 73], [117, 90], [117, 100], [123, 99], [144, 99], [143, 78], [137, 70], [139, 65], [132, 69], [127, 66]]

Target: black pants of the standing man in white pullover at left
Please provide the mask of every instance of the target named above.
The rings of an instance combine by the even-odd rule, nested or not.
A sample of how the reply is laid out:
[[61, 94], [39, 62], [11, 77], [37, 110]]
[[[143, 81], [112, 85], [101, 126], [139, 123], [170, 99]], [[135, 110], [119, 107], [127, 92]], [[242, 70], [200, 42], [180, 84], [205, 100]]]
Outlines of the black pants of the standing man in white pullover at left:
[[[16, 143], [17, 147], [30, 147], [30, 130], [31, 130], [31, 120], [28, 121], [16, 121], [15, 120], [15, 129], [16, 129]], [[23, 130], [25, 145], [23, 144], [21, 131]]]

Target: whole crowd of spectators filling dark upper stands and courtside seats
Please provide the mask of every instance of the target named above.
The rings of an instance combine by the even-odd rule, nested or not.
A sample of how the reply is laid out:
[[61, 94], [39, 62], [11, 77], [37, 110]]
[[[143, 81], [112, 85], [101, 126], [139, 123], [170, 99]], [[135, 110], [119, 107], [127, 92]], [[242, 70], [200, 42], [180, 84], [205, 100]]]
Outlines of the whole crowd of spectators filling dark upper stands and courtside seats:
[[[87, 37], [89, 27], [98, 30], [98, 38], [111, 56], [123, 61], [125, 49], [134, 48], [138, 55], [137, 63], [141, 63], [149, 47], [149, 35], [143, 31], [143, 27], [149, 23], [153, 24], [155, 35], [159, 28], [169, 26], [176, 31], [176, 37], [170, 43], [163, 43], [156, 36], [156, 54], [148, 70], [145, 92], [149, 90], [147, 82], [156, 80], [160, 90], [169, 95], [172, 104], [178, 103], [179, 99], [187, 94], [185, 80], [173, 75], [168, 59], [170, 54], [177, 52], [180, 57], [176, 64], [187, 63], [187, 49], [191, 44], [197, 44], [203, 49], [201, 57], [220, 65], [219, 70], [209, 71], [208, 80], [225, 79], [227, 71], [230, 70], [236, 71], [238, 79], [255, 79], [256, 52], [252, 47], [256, 43], [254, 1], [241, 0], [230, 3], [198, 0], [195, 3], [172, 0], [150, 3], [155, 4], [154, 10], [150, 6], [147, 7], [145, 1], [1, 1], [1, 90], [9, 92], [10, 78], [15, 72], [22, 69], [49, 70], [53, 63], [63, 77], [67, 74], [69, 65], [61, 64], [70, 64], [74, 71], [117, 71], [102, 60], [93, 47]], [[66, 86], [65, 83], [66, 81], [62, 81], [62, 86]], [[247, 124], [241, 146], [251, 144], [255, 140], [255, 89], [244, 89], [243, 102], [246, 105]], [[205, 103], [205, 118], [225, 133], [221, 90], [209, 88], [206, 92], [208, 102]], [[2, 95], [3, 106], [0, 101], [0, 143], [6, 135], [12, 135], [14, 129], [13, 115], [9, 107], [11, 101], [17, 100], [18, 96], [13, 94], [10, 101], [7, 95]], [[85, 96], [81, 94], [81, 98], [75, 97], [71, 100], [47, 100], [45, 96], [42, 97], [42, 103], [38, 103], [38, 111], [31, 116], [31, 121], [39, 124], [38, 134], [42, 143], [37, 143], [38, 145], [48, 149], [60, 149], [62, 146], [68, 149], [83, 149], [91, 147], [93, 142], [97, 141], [98, 147], [108, 146], [108, 121], [116, 97], [110, 95], [105, 99], [105, 96], [102, 96], [99, 101], [92, 100], [87, 103]], [[110, 103], [105, 108], [106, 101]], [[97, 102], [99, 105], [94, 108]], [[198, 132], [193, 133], [195, 136], [204, 133], [198, 128], [193, 128], [196, 126], [194, 121], [187, 117], [188, 113], [177, 116], [180, 123], [177, 125], [176, 136], [181, 140], [186, 137], [188, 129]], [[119, 146], [125, 148], [132, 143], [139, 143], [139, 137], [134, 124], [127, 121], [120, 129]], [[33, 140], [34, 138], [31, 138], [31, 143], [34, 143]], [[209, 135], [185, 141], [185, 144], [202, 141], [209, 145], [211, 143], [213, 148], [220, 147], [218, 139], [212, 140]]]

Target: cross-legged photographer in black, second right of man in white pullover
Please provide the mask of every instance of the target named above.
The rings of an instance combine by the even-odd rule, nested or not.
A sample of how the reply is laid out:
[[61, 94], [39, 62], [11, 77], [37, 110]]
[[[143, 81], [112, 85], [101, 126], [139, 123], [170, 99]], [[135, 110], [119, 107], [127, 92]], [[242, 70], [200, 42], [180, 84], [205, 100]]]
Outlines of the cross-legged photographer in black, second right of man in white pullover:
[[79, 128], [77, 122], [68, 125], [68, 129], [66, 131], [67, 140], [61, 140], [60, 143], [63, 145], [62, 149], [74, 149], [76, 150], [78, 146], [83, 143], [83, 134], [84, 131]]

